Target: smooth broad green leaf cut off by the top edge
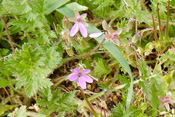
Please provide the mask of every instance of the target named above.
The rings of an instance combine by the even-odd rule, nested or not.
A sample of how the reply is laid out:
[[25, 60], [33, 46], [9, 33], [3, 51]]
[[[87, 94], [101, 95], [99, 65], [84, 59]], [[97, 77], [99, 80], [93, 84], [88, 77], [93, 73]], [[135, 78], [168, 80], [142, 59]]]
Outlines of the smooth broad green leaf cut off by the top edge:
[[45, 0], [44, 3], [44, 14], [49, 14], [52, 11], [56, 10], [60, 6], [64, 5], [67, 3], [69, 0]]

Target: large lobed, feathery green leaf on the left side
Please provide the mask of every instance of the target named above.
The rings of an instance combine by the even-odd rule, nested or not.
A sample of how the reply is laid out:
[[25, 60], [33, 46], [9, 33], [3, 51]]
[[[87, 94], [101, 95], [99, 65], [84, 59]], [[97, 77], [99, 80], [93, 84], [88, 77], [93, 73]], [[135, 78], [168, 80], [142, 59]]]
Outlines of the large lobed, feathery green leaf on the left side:
[[[56, 46], [33, 46], [24, 44], [22, 50], [8, 56], [4, 64], [13, 74], [18, 74], [16, 88], [24, 86], [29, 97], [43, 88], [50, 88], [52, 82], [47, 78], [61, 60]], [[49, 97], [48, 97], [49, 98]]]

